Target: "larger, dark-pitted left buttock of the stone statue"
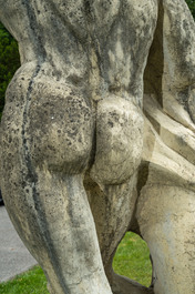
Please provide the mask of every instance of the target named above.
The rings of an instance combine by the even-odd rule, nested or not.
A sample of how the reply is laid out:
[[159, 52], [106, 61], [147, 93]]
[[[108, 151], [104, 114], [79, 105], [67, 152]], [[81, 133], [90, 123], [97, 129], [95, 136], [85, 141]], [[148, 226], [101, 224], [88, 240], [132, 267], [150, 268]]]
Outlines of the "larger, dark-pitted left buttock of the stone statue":
[[92, 150], [92, 104], [68, 85], [52, 81], [37, 81], [32, 95], [29, 132], [34, 163], [62, 173], [82, 172]]

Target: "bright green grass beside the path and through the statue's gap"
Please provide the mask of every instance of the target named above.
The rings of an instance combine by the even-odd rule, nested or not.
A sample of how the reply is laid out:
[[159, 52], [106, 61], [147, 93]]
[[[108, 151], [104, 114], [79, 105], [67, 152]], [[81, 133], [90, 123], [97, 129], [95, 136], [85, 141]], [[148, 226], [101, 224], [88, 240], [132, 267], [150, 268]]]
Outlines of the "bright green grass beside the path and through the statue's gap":
[[[126, 233], [117, 247], [113, 267], [116, 273], [148, 286], [152, 268], [145, 242], [133, 233]], [[1, 283], [0, 294], [49, 294], [43, 271], [34, 266], [14, 280]]]

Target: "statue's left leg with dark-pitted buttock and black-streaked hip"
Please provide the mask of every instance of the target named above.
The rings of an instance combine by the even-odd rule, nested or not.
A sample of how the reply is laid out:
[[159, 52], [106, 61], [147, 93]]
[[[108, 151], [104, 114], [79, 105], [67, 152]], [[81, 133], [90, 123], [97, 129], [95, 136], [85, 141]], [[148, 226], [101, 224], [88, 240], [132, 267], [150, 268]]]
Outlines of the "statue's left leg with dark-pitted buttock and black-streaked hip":
[[8, 212], [51, 294], [110, 294], [82, 183], [93, 140], [90, 102], [64, 83], [51, 89], [39, 68], [32, 74], [27, 67], [9, 87], [1, 125]]

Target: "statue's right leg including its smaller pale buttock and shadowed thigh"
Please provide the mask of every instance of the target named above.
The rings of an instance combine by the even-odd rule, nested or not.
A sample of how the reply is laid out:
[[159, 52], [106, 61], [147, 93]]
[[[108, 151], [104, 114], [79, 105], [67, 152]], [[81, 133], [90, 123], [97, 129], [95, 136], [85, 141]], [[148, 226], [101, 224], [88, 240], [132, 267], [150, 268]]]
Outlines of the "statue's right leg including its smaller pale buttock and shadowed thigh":
[[116, 275], [112, 261], [129, 230], [136, 204], [137, 166], [143, 119], [131, 99], [110, 94], [98, 103], [95, 161], [85, 178], [105, 273], [114, 294], [145, 294], [151, 290]]

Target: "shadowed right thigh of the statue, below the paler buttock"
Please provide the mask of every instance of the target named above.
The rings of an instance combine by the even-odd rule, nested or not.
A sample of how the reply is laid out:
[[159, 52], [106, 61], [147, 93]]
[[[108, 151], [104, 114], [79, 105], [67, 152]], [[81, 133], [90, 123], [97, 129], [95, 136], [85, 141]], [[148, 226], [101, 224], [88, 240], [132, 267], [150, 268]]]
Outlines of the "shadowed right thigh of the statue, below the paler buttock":
[[129, 231], [136, 204], [137, 174], [117, 185], [98, 185], [86, 178], [84, 185], [94, 216], [105, 274], [114, 294], [153, 294], [135, 281], [114, 273], [112, 263], [117, 245]]

